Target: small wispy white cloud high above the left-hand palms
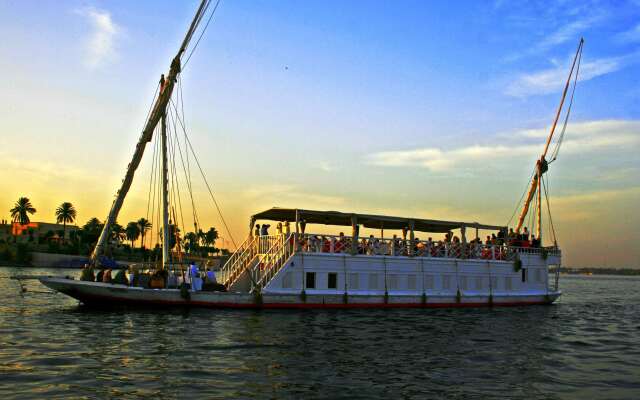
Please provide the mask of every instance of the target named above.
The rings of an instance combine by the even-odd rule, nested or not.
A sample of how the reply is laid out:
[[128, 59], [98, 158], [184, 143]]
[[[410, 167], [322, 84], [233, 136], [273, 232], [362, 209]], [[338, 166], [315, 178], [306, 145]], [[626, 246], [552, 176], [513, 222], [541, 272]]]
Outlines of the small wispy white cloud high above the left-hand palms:
[[113, 62], [117, 57], [115, 42], [122, 30], [113, 22], [111, 13], [93, 7], [76, 12], [85, 17], [91, 26], [85, 43], [85, 65], [95, 69], [105, 63]]

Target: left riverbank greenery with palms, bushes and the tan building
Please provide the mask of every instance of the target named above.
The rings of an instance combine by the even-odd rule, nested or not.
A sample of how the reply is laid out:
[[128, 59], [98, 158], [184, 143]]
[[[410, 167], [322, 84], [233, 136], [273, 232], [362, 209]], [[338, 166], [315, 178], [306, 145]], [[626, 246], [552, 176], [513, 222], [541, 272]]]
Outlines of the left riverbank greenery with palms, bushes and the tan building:
[[[11, 221], [3, 221], [3, 229], [0, 231], [0, 265], [5, 266], [31, 266], [31, 253], [88, 258], [104, 226], [95, 217], [90, 218], [83, 226], [71, 225], [77, 220], [77, 211], [70, 202], [63, 202], [56, 208], [55, 224], [32, 223], [31, 218], [37, 210], [28, 197], [20, 197], [9, 212]], [[153, 247], [149, 246], [151, 248], [145, 245], [145, 242], [151, 242], [152, 235], [162, 236], [161, 228], [153, 228], [152, 221], [146, 218], [131, 221], [124, 226], [115, 223], [109, 234], [105, 256], [122, 262], [161, 259], [162, 248], [158, 241]], [[229, 254], [227, 249], [215, 247], [220, 237], [214, 227], [203, 231], [195, 225], [193, 232], [182, 234], [181, 227], [172, 224], [170, 230], [173, 252], [201, 258]]]

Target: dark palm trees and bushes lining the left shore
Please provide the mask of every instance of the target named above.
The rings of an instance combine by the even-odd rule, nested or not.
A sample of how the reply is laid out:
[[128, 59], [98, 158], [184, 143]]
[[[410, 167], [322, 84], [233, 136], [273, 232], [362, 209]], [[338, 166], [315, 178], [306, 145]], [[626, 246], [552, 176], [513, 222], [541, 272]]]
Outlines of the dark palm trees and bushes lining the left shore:
[[[20, 197], [9, 212], [13, 223], [28, 226], [31, 222], [30, 216], [33, 216], [37, 210], [29, 198]], [[58, 224], [62, 224], [62, 230], [58, 232], [48, 231], [44, 234], [40, 232], [36, 240], [33, 228], [27, 227], [22, 232], [23, 235], [27, 235], [26, 243], [24, 241], [18, 243], [18, 237], [12, 230], [13, 247], [25, 246], [31, 243], [33, 246], [45, 245], [50, 252], [88, 255], [95, 247], [104, 224], [98, 218], [92, 217], [82, 227], [71, 230], [67, 235], [67, 224], [75, 223], [76, 219], [77, 211], [74, 205], [70, 202], [63, 202], [55, 210], [55, 220]], [[143, 259], [152, 259], [158, 256], [161, 249], [159, 243], [156, 243], [152, 249], [147, 249], [145, 246], [145, 239], [149, 237], [152, 228], [152, 223], [146, 218], [128, 222], [125, 226], [118, 223], [113, 224], [108, 238], [111, 245], [110, 251], [116, 253], [113, 255], [137, 255], [138, 257], [142, 256]], [[171, 237], [169, 246], [172, 250], [177, 250], [177, 246], [179, 246], [180, 251], [202, 257], [221, 252], [223, 254], [227, 253], [226, 249], [221, 250], [215, 247], [215, 242], [219, 235], [214, 227], [209, 228], [207, 231], [196, 229], [193, 232], [187, 232], [182, 238], [180, 237], [180, 229], [175, 224], [171, 224], [169, 230]], [[159, 229], [157, 233], [161, 237], [162, 229]], [[129, 244], [126, 243], [127, 241]], [[137, 241], [139, 241], [139, 245], [136, 248], [135, 243]], [[0, 245], [2, 244], [0, 243]], [[9, 254], [11, 250], [16, 253], [13, 258], [17, 258], [20, 249], [11, 249], [9, 248], [11, 245], [12, 243], [9, 241], [4, 243], [4, 248], [0, 248], [0, 260], [4, 258], [5, 261], [12, 261], [7, 259], [11, 258], [11, 254]]]

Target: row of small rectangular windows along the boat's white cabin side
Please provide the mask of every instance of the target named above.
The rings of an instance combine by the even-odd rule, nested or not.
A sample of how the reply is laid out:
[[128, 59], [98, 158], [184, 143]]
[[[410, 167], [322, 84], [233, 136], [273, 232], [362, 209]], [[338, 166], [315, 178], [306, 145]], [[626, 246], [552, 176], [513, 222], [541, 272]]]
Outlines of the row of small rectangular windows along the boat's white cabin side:
[[[528, 269], [523, 268], [521, 270], [521, 279], [522, 282], [527, 282], [529, 279]], [[407, 290], [416, 290], [417, 289], [417, 276], [414, 274], [406, 275], [407, 277]], [[315, 272], [307, 272], [305, 276], [305, 287], [307, 289], [316, 289], [316, 273]], [[371, 290], [381, 290], [384, 289], [384, 277], [381, 273], [370, 273], [368, 274], [368, 289]], [[400, 275], [398, 274], [387, 274], [387, 289], [399, 289], [399, 279]], [[460, 276], [459, 285], [461, 290], [482, 290], [487, 287], [489, 284], [489, 279], [487, 277], [467, 277]], [[494, 289], [498, 289], [498, 277], [492, 276], [491, 278], [491, 287]], [[504, 286], [505, 290], [511, 290], [513, 288], [513, 278], [510, 276], [504, 277]], [[543, 272], [540, 269], [535, 270], [535, 282], [544, 283]], [[358, 273], [350, 273], [348, 275], [348, 285], [350, 289], [361, 289], [360, 287], [360, 274]], [[443, 289], [452, 289], [455, 285], [455, 275], [442, 275], [442, 288]], [[293, 279], [292, 274], [290, 272], [286, 273], [282, 282], [283, 288], [292, 288], [293, 287]], [[424, 287], [425, 289], [434, 289], [435, 287], [435, 277], [434, 275], [425, 275], [424, 277]], [[337, 272], [329, 272], [327, 274], [327, 289], [337, 289], [338, 288], [338, 273]], [[364, 289], [364, 288], [362, 288]]]

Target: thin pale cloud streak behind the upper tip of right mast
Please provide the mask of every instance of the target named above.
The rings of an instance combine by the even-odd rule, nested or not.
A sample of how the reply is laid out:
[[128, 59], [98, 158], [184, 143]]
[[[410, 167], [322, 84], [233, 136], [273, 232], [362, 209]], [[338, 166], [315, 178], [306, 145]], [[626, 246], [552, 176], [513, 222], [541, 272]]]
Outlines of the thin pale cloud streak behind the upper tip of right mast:
[[[598, 76], [616, 72], [631, 62], [637, 61], [638, 54], [600, 58], [580, 65], [578, 80], [588, 81]], [[571, 62], [572, 60], [570, 60]], [[525, 73], [514, 78], [505, 88], [505, 94], [513, 97], [560, 92], [564, 87], [571, 64], [557, 65], [542, 71]]]

